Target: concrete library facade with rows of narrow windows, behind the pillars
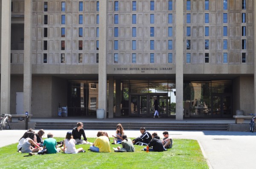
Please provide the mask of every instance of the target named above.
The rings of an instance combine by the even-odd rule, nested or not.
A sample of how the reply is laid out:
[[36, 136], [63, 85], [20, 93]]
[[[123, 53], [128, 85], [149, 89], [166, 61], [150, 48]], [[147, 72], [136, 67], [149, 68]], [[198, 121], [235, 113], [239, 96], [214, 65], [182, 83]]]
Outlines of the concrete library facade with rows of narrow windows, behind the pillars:
[[[1, 112], [15, 114], [15, 94], [23, 92], [24, 112], [55, 117], [59, 102], [73, 101], [68, 84], [90, 80], [99, 84], [96, 108], [105, 110], [105, 118], [107, 112], [109, 118], [123, 115], [125, 101], [131, 103], [131, 92], [122, 100], [126, 81], [175, 82], [177, 120], [183, 120], [183, 84], [191, 82], [230, 81], [232, 92], [221, 97], [232, 96], [232, 114], [254, 112], [253, 0], [12, 0], [3, 5], [10, 11], [1, 10]], [[7, 16], [12, 29], [5, 32]], [[21, 38], [15, 39], [21, 27]], [[9, 39], [12, 50], [4, 46]], [[211, 111], [215, 95], [209, 96]]]

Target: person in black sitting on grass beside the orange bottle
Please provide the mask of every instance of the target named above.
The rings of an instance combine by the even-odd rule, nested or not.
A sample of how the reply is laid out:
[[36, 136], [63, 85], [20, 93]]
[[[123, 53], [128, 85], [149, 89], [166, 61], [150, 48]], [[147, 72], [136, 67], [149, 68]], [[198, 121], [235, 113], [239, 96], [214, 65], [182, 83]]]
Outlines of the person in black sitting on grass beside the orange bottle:
[[[166, 149], [163, 147], [162, 141], [160, 140], [160, 137], [157, 135], [156, 132], [152, 133], [152, 140], [148, 143], [148, 147], [152, 147], [149, 148], [148, 150], [150, 152], [163, 152]], [[144, 148], [144, 151], [146, 151], [147, 148]]]

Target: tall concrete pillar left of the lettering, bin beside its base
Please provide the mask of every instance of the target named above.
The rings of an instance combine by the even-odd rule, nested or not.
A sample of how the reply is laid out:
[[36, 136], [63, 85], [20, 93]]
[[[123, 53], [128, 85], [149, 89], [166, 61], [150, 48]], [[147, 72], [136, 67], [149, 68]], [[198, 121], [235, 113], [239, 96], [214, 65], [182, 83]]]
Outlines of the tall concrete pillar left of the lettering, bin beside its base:
[[99, 1], [99, 100], [107, 118], [107, 0]]

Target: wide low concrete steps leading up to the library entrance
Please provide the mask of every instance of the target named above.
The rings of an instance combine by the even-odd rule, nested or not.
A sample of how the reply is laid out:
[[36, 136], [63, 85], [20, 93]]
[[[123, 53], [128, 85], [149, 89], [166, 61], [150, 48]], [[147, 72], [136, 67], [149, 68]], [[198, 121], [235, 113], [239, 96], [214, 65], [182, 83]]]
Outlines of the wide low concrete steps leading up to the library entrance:
[[[116, 122], [83, 122], [84, 130], [116, 130]], [[125, 130], [222, 130], [227, 131], [228, 124], [220, 123], [149, 123], [149, 122], [123, 122]], [[36, 122], [35, 129], [40, 130], [72, 130], [76, 127], [73, 122]]]

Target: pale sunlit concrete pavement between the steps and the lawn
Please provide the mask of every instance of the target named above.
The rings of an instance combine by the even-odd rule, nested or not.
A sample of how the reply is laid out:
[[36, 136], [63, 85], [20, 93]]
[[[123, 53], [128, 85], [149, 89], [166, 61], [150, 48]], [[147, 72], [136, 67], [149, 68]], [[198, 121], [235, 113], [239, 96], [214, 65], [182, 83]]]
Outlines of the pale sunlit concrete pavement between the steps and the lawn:
[[[26, 130], [0, 131], [0, 147], [17, 143]], [[68, 130], [45, 130], [54, 137], [65, 137]], [[111, 136], [114, 130], [106, 130]], [[36, 130], [37, 132], [37, 130]], [[96, 137], [96, 130], [85, 130], [86, 137]], [[162, 137], [163, 131], [157, 132]], [[128, 137], [138, 137], [139, 130], [125, 130]], [[209, 167], [213, 169], [247, 169], [255, 165], [256, 133], [226, 131], [169, 131], [172, 138], [195, 139], [201, 145]], [[6, 139], [8, 138], [8, 139]], [[175, 146], [175, 141], [174, 141]], [[172, 150], [170, 150], [172, 151]]]

